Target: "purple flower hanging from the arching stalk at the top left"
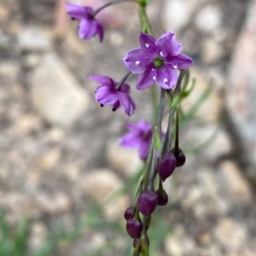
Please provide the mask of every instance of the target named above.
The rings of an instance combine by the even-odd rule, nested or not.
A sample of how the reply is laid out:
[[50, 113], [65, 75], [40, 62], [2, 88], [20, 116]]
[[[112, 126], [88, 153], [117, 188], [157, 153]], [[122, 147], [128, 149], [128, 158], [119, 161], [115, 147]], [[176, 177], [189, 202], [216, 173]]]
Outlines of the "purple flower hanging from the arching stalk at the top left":
[[66, 4], [67, 14], [73, 20], [81, 20], [79, 24], [79, 38], [90, 39], [99, 34], [100, 41], [102, 42], [104, 31], [102, 23], [96, 20], [93, 16], [93, 9], [88, 6], [80, 6], [77, 4]]

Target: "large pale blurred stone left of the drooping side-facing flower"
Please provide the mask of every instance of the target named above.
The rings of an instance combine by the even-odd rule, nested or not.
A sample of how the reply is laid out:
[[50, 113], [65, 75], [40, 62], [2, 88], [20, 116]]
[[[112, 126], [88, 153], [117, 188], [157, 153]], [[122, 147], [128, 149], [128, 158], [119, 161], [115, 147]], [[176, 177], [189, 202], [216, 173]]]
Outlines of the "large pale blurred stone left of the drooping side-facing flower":
[[86, 91], [54, 54], [44, 56], [30, 82], [34, 106], [53, 125], [72, 125], [90, 105]]

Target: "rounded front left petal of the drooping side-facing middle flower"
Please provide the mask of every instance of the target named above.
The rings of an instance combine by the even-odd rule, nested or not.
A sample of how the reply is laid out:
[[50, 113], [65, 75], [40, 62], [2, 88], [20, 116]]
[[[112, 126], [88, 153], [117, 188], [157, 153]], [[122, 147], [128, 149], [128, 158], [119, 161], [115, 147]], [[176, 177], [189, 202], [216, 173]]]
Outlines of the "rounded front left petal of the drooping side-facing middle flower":
[[95, 99], [103, 105], [113, 105], [118, 101], [116, 91], [108, 86], [99, 86], [96, 89]]

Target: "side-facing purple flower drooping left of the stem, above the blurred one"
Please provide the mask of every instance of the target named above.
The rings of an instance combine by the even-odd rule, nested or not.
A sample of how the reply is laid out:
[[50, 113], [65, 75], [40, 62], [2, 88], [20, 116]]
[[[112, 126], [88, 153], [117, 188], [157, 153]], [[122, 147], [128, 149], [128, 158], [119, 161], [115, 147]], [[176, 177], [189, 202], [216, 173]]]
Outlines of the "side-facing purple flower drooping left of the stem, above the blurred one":
[[96, 102], [101, 103], [102, 106], [112, 105], [113, 111], [122, 106], [129, 116], [134, 113], [136, 106], [129, 95], [130, 86], [128, 84], [122, 84], [117, 89], [115, 85], [118, 83], [107, 76], [90, 75], [88, 78], [101, 84], [96, 88]]

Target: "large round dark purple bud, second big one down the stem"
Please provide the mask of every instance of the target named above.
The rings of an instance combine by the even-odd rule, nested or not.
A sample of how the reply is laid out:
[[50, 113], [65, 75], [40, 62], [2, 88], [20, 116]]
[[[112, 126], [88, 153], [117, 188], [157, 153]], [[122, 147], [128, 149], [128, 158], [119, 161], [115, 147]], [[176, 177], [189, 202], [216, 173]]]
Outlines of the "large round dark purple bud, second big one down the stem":
[[157, 205], [157, 194], [152, 190], [145, 190], [137, 199], [137, 208], [145, 216], [149, 216]]

